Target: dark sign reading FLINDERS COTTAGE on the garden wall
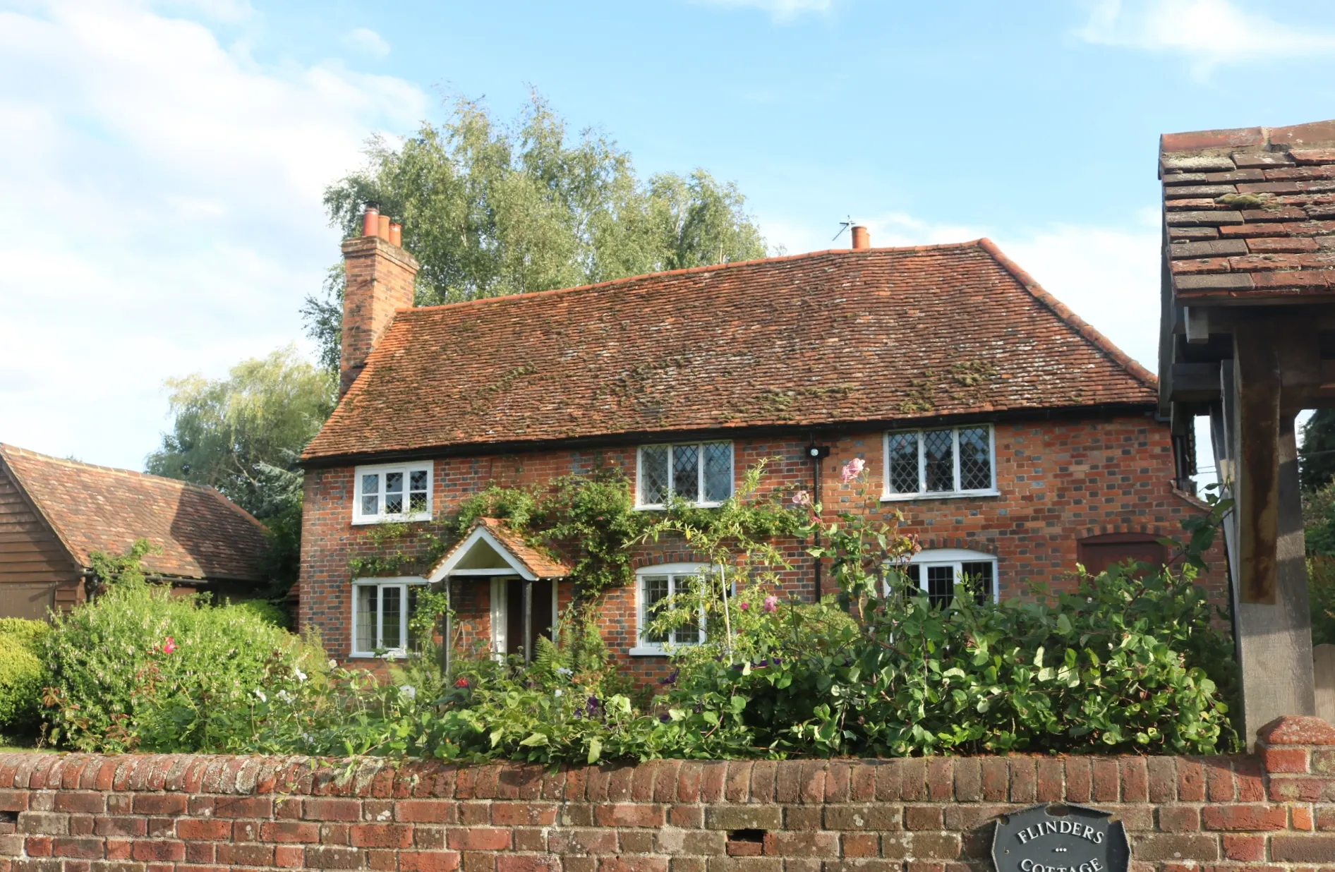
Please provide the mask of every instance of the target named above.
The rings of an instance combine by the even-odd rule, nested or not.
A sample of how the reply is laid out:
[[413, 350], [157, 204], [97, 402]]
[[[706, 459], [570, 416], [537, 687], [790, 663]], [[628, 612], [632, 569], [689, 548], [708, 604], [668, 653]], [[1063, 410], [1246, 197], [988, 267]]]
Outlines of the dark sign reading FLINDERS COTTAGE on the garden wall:
[[997, 820], [997, 872], [1127, 872], [1131, 845], [1121, 821], [1083, 805], [1033, 805]]

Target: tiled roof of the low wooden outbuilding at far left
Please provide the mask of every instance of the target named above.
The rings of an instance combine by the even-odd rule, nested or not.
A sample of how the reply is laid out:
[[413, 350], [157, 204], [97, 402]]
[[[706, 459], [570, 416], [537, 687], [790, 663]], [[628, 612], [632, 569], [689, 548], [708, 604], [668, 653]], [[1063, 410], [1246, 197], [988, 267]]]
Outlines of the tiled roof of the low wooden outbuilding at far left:
[[260, 581], [264, 527], [212, 487], [64, 461], [0, 443], [0, 461], [80, 566], [91, 552], [124, 553], [146, 538], [150, 573]]

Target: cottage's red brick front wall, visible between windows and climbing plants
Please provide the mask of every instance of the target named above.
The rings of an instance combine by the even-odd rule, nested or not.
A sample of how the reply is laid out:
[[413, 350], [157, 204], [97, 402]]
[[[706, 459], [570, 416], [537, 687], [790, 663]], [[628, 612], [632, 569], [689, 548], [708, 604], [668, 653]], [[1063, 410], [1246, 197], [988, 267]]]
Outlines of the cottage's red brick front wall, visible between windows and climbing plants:
[[[1200, 503], [1172, 486], [1172, 450], [1168, 429], [1149, 417], [1104, 419], [1052, 419], [996, 426], [996, 478], [1000, 495], [876, 502], [874, 511], [904, 515], [901, 530], [920, 537], [924, 548], [964, 548], [995, 554], [1003, 597], [1029, 598], [1028, 582], [1052, 589], [1069, 588], [1079, 539], [1108, 533], [1144, 533], [1179, 537], [1181, 521], [1200, 513]], [[770, 462], [762, 491], [809, 487], [810, 462], [798, 438], [736, 439], [738, 478], [762, 458]], [[878, 497], [882, 477], [882, 434], [850, 433], [830, 442], [822, 465], [822, 498], [826, 514], [861, 510], [864, 498], [856, 485], [841, 485], [840, 469], [854, 457], [866, 461], [869, 495]], [[533, 485], [569, 473], [589, 473], [598, 466], [619, 467], [629, 477], [635, 470], [635, 449], [602, 451], [566, 450], [435, 461], [434, 509], [441, 518], [467, 495], [489, 483]], [[303, 628], [319, 628], [331, 654], [350, 650], [351, 581], [348, 561], [375, 553], [374, 527], [352, 526], [352, 469], [315, 469], [306, 477], [306, 514], [302, 535]], [[429, 525], [422, 525], [427, 529]], [[392, 548], [425, 553], [426, 545], [411, 537]], [[788, 542], [785, 552], [794, 569], [785, 574], [784, 593], [810, 600], [812, 558], [804, 543]], [[637, 568], [696, 560], [680, 542], [645, 546]], [[1211, 570], [1200, 578], [1212, 600], [1224, 602], [1226, 581], [1222, 549], [1208, 556]], [[455, 608], [466, 642], [490, 638], [490, 592], [487, 582], [457, 581]], [[559, 586], [561, 604], [570, 586]], [[826, 580], [825, 592], [830, 592]], [[646, 681], [662, 674], [665, 660], [634, 657], [635, 592], [621, 588], [606, 594], [602, 610], [603, 638], [629, 674]]]

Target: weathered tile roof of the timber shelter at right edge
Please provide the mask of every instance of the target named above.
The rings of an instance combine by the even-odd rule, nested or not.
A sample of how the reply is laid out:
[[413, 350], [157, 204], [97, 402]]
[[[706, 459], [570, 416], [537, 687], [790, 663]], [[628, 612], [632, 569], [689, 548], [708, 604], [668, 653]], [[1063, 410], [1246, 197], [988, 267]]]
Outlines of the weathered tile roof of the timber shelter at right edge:
[[1335, 294], [1335, 122], [1165, 134], [1159, 178], [1180, 300]]

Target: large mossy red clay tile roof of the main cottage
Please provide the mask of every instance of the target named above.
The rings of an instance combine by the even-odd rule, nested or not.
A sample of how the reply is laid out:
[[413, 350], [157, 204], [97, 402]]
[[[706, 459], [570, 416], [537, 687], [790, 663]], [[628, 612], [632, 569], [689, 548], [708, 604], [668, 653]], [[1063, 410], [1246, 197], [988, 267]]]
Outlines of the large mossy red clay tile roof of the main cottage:
[[402, 310], [304, 458], [999, 410], [1155, 378], [987, 239]]

